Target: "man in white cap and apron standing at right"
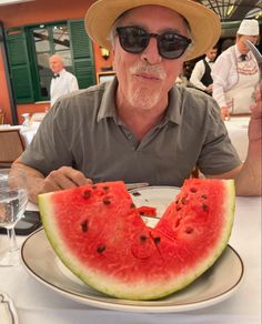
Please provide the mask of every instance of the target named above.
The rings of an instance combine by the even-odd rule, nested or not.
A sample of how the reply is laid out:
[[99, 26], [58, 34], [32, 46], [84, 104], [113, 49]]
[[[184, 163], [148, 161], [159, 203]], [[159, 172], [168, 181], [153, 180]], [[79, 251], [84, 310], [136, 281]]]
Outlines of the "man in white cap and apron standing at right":
[[259, 64], [245, 41], [259, 39], [259, 22], [243, 20], [234, 45], [222, 52], [212, 69], [213, 98], [220, 105], [222, 119], [231, 114], [251, 113], [253, 92], [260, 81]]

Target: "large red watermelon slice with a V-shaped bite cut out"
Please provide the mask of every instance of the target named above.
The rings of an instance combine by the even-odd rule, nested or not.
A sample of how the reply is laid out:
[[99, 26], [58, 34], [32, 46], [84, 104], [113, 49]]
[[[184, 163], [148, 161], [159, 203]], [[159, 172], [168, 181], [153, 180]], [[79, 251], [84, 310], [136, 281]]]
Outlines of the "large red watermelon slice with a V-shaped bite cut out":
[[153, 300], [183, 288], [220, 256], [234, 213], [232, 180], [191, 179], [154, 229], [123, 182], [39, 195], [47, 236], [62, 262], [105, 294]]

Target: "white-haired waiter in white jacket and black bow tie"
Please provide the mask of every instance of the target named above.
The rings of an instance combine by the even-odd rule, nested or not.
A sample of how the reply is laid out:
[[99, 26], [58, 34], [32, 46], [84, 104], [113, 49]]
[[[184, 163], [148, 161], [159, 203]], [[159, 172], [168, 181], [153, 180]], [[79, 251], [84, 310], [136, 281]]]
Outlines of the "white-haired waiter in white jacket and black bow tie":
[[79, 87], [77, 78], [64, 69], [63, 60], [59, 54], [50, 57], [49, 65], [53, 72], [50, 85], [50, 103], [52, 107], [61, 95], [79, 90]]

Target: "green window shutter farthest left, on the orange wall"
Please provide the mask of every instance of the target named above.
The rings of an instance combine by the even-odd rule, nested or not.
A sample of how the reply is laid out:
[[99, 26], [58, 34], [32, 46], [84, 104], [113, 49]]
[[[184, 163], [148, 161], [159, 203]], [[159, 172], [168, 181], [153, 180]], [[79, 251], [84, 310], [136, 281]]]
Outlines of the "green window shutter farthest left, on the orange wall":
[[7, 47], [16, 100], [18, 103], [33, 102], [27, 39], [22, 28], [7, 30]]

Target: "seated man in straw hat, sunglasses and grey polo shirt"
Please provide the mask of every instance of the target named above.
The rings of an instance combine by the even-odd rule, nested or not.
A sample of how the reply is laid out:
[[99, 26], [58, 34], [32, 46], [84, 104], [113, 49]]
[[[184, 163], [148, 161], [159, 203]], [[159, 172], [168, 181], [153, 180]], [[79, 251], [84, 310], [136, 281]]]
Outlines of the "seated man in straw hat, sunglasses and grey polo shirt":
[[190, 0], [99, 0], [85, 28], [111, 51], [117, 78], [58, 100], [42, 121], [14, 163], [27, 171], [32, 201], [87, 182], [180, 186], [195, 165], [234, 178], [238, 194], [261, 194], [259, 92], [242, 164], [215, 101], [174, 85], [184, 60], [216, 43], [213, 11]]

